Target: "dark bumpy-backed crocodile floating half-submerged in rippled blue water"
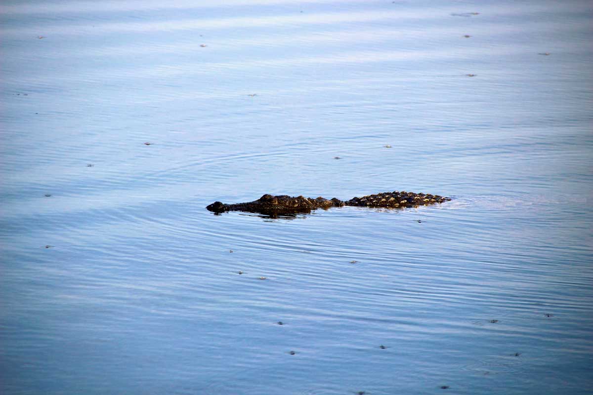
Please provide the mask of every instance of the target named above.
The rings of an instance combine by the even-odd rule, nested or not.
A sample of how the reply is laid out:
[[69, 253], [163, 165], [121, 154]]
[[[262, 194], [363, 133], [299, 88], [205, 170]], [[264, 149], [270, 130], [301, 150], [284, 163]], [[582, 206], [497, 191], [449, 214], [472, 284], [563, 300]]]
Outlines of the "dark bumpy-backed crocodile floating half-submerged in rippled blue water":
[[294, 197], [288, 195], [273, 196], [265, 194], [257, 200], [246, 203], [224, 204], [215, 201], [214, 203], [209, 204], [206, 208], [217, 214], [224, 213], [225, 211], [248, 211], [250, 213], [276, 216], [279, 214], [311, 213], [312, 210], [316, 210], [317, 208], [327, 210], [330, 207], [343, 207], [345, 205], [358, 207], [406, 208], [443, 203], [449, 200], [451, 200], [451, 198], [443, 197], [441, 195], [406, 191], [381, 192], [363, 197], [353, 197], [346, 201], [337, 198], [306, 198], [302, 195]]

